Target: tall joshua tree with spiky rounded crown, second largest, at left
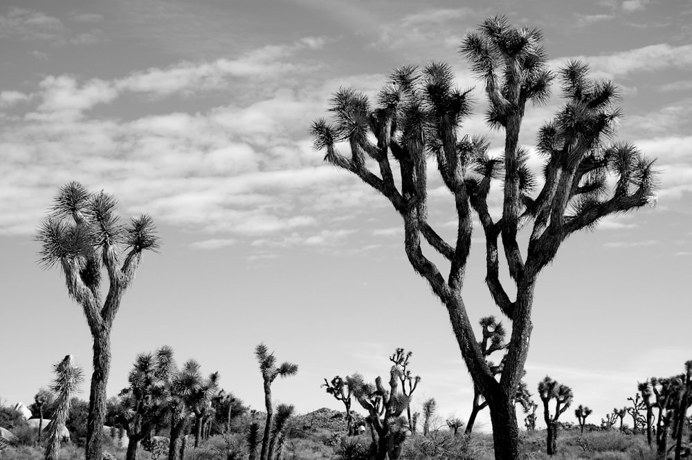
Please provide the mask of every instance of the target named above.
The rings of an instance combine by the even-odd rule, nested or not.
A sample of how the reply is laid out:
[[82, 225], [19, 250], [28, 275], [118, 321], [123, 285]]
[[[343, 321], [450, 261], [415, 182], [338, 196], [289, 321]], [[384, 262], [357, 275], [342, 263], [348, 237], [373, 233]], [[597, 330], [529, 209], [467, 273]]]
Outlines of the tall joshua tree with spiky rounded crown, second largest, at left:
[[[82, 306], [93, 338], [93, 374], [86, 421], [86, 460], [100, 460], [106, 418], [106, 385], [111, 367], [111, 328], [122, 295], [132, 284], [145, 250], [158, 249], [154, 221], [147, 215], [122, 224], [118, 202], [104, 192], [92, 193], [82, 184], [60, 187], [48, 219], [36, 239], [42, 244], [41, 263], [60, 266], [67, 291]], [[101, 291], [105, 268], [109, 288]]]

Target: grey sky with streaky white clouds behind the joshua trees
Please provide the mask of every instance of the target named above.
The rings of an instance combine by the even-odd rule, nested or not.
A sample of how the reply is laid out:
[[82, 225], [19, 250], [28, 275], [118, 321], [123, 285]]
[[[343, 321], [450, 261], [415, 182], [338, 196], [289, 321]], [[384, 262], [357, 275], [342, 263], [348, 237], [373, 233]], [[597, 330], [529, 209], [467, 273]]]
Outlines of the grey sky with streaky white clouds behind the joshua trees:
[[[0, 400], [28, 405], [69, 353], [91, 375], [81, 307], [59, 270], [39, 266], [33, 239], [58, 187], [80, 181], [116, 196], [122, 217], [150, 214], [162, 240], [116, 317], [109, 396], [137, 353], [169, 344], [261, 410], [253, 350], [265, 342], [299, 366], [273, 384], [275, 403], [339, 409], [324, 378], [373, 381], [403, 347], [422, 378], [414, 410], [434, 397], [441, 420], [465, 420], [471, 380], [444, 307], [408, 265], [401, 220], [323, 163], [308, 129], [340, 86], [372, 95], [392, 68], [445, 61], [474, 89], [460, 134], [488, 135], [499, 154], [483, 85], [458, 53], [496, 14], [543, 30], [554, 70], [578, 58], [621, 86], [617, 139], [657, 158], [661, 183], [655, 207], [575, 234], [541, 273], [529, 389], [545, 375], [570, 385], [598, 424], [637, 381], [681, 373], [692, 359], [689, 1], [0, 0]], [[555, 88], [527, 109], [522, 145], [561, 103]], [[430, 183], [431, 223], [451, 238], [450, 196]], [[474, 322], [501, 316], [481, 236], [464, 286]], [[477, 423], [489, 430], [487, 412]]]

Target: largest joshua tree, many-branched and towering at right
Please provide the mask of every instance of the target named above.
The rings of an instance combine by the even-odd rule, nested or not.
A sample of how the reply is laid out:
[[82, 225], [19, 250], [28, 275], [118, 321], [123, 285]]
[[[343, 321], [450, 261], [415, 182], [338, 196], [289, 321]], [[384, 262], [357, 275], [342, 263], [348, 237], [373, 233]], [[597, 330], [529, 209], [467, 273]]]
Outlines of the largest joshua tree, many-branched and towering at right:
[[[536, 147], [545, 158], [545, 181], [540, 192], [533, 193], [537, 181], [527, 165], [528, 150], [518, 139], [527, 103], [545, 102], [554, 80], [541, 40], [539, 30], [493, 17], [462, 43], [462, 54], [485, 84], [486, 120], [504, 131], [501, 158], [488, 156], [484, 138], [459, 134], [462, 120], [471, 113], [469, 91], [457, 89], [450, 66], [440, 62], [395, 70], [377, 96], [376, 107], [362, 93], [339, 89], [329, 107], [334, 122], [321, 119], [311, 127], [314, 147], [326, 150], [325, 160], [358, 176], [402, 217], [408, 261], [446, 307], [473, 384], [488, 401], [498, 460], [520, 455], [514, 398], [529, 351], [540, 271], [571, 234], [594, 228], [610, 214], [646, 205], [655, 188], [652, 160], [634, 145], [606, 142], [621, 115], [615, 104], [617, 86], [590, 80], [588, 67], [575, 61], [558, 72], [565, 104], [538, 131]], [[349, 156], [336, 149], [342, 141]], [[429, 156], [435, 158], [444, 187], [453, 196], [454, 243], [445, 241], [428, 222]], [[379, 172], [371, 171], [366, 158]], [[392, 161], [399, 163], [400, 187]], [[612, 190], [606, 183], [609, 176], [616, 180]], [[502, 217], [497, 220], [488, 206], [494, 178], [502, 181]], [[462, 296], [473, 213], [486, 240], [486, 284], [511, 324], [499, 380], [475, 340]], [[524, 252], [517, 237], [520, 227], [529, 232]], [[514, 299], [500, 277], [500, 237], [512, 291], [516, 288]], [[421, 239], [448, 261], [448, 276], [426, 255]]]

